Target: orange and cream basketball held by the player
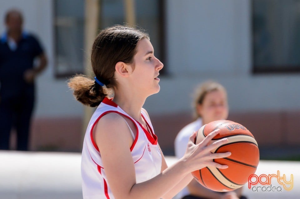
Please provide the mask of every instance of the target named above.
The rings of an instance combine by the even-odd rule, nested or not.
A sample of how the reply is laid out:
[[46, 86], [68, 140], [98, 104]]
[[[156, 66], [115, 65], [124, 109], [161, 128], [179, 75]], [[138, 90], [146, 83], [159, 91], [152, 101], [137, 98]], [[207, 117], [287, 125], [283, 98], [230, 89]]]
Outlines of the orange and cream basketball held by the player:
[[193, 171], [194, 178], [204, 187], [213, 191], [232, 191], [242, 187], [248, 177], [255, 173], [259, 162], [259, 150], [252, 133], [241, 124], [229, 120], [217, 120], [203, 125], [197, 132], [195, 144], [199, 144], [210, 132], [220, 129], [211, 143], [227, 138], [228, 142], [212, 153], [231, 152], [231, 156], [213, 159], [227, 169], [207, 166]]

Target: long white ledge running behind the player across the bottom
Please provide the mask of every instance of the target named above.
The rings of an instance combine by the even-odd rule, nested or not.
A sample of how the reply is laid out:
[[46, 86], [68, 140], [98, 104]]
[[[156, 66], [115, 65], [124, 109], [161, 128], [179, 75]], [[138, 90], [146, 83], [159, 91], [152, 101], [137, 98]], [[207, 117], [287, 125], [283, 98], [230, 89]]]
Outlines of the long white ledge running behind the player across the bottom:
[[[176, 162], [166, 156], [168, 165]], [[0, 198], [3, 199], [82, 199], [81, 154], [64, 152], [19, 152], [0, 151]], [[256, 174], [286, 175], [289, 181], [293, 174], [293, 189], [282, 192], [258, 192], [244, 186], [244, 195], [249, 199], [299, 198], [300, 162], [260, 161]], [[275, 178], [272, 186], [282, 186]], [[255, 185], [269, 186], [269, 185]]]

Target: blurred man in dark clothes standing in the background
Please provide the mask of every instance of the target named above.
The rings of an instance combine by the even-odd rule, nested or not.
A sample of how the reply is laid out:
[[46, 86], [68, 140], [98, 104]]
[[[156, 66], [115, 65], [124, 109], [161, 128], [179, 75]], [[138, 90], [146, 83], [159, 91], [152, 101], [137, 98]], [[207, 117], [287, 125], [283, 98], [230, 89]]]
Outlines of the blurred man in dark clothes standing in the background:
[[[9, 149], [12, 127], [17, 131], [17, 150], [28, 150], [34, 107], [34, 79], [47, 64], [37, 39], [22, 30], [23, 16], [9, 10], [6, 32], [0, 38], [0, 150]], [[38, 58], [39, 64], [34, 65]]]

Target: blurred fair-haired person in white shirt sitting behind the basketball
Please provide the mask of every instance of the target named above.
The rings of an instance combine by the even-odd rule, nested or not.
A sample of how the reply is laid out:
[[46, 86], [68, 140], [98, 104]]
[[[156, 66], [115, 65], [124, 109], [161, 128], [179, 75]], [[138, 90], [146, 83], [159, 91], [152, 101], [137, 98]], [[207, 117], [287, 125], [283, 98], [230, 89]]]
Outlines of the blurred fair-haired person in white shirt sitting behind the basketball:
[[[186, 125], [176, 136], [175, 155], [184, 156], [186, 145], [192, 131], [198, 130], [202, 125], [215, 120], [226, 120], [228, 117], [228, 103], [226, 89], [219, 83], [207, 81], [199, 85], [194, 97], [195, 121]], [[180, 195], [182, 199], [245, 199], [241, 196], [242, 188], [229, 192], [211, 191], [193, 179]]]

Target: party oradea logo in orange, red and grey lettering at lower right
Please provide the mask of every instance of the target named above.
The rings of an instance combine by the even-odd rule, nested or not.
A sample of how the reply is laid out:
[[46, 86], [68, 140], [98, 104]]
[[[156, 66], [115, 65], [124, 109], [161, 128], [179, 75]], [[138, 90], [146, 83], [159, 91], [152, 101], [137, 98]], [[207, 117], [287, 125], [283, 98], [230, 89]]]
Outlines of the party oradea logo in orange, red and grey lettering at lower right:
[[277, 174], [261, 174], [259, 176], [252, 174], [248, 178], [248, 188], [254, 192], [291, 191], [293, 185], [293, 174], [291, 176], [285, 174], [281, 176], [279, 171], [277, 171]]

